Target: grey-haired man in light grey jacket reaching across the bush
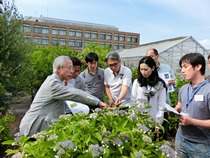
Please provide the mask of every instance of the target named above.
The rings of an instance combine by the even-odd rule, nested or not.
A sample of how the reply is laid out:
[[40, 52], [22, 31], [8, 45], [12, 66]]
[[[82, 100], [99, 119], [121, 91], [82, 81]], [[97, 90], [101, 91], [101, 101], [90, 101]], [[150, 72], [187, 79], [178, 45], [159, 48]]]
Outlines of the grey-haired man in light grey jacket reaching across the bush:
[[20, 132], [33, 135], [49, 129], [50, 122], [65, 114], [65, 100], [84, 103], [92, 107], [105, 109], [107, 105], [98, 98], [82, 90], [64, 86], [64, 80], [70, 80], [74, 72], [68, 56], [59, 56], [53, 62], [53, 74], [48, 76], [39, 88], [30, 109], [20, 123]]

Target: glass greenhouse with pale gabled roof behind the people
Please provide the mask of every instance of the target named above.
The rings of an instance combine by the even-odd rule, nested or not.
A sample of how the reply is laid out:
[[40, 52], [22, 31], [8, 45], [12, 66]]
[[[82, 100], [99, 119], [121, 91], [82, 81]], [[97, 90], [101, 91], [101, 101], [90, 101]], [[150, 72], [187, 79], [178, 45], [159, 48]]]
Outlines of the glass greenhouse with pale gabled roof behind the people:
[[[205, 59], [209, 52], [192, 36], [184, 36], [142, 44], [135, 48], [118, 50], [122, 63], [130, 68], [136, 68], [146, 51], [155, 48], [159, 52], [159, 61], [170, 65], [175, 73], [180, 73], [179, 59], [187, 53], [201, 53]], [[207, 73], [208, 73], [208, 69]]]

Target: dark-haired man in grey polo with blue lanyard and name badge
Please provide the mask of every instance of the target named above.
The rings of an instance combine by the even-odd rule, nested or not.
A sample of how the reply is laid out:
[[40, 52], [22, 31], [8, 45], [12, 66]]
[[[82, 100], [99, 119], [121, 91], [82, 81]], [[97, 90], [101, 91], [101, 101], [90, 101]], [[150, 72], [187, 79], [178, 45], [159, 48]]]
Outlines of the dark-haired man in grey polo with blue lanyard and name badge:
[[175, 107], [180, 112], [175, 148], [179, 158], [210, 157], [210, 83], [205, 79], [205, 58], [189, 53], [179, 60], [185, 80]]

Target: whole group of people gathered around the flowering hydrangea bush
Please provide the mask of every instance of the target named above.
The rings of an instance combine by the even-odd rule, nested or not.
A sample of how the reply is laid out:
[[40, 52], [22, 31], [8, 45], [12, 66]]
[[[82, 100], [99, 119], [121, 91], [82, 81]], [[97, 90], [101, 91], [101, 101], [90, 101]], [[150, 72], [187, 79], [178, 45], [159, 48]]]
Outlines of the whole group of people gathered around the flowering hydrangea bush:
[[[148, 113], [162, 124], [163, 105], [170, 104], [168, 92], [169, 88], [174, 88], [176, 77], [168, 65], [159, 63], [158, 58], [156, 49], [148, 50], [137, 66], [137, 79], [132, 82], [131, 70], [121, 63], [116, 52], [107, 54], [106, 69], [98, 66], [96, 53], [89, 53], [85, 58], [87, 68], [81, 73], [80, 60], [57, 57], [53, 74], [38, 90], [21, 121], [20, 131], [31, 136], [49, 129], [50, 122], [65, 113], [89, 113], [93, 108], [119, 105], [129, 108], [142, 100], [148, 101], [152, 107]], [[208, 60], [210, 68], [210, 56]], [[210, 84], [205, 77], [205, 58], [199, 53], [189, 53], [179, 64], [182, 75], [190, 83], [180, 89], [175, 107], [187, 114], [178, 116], [180, 126], [175, 143], [178, 156], [210, 156]], [[162, 78], [163, 74], [167, 80]], [[104, 102], [105, 94], [108, 103]]]

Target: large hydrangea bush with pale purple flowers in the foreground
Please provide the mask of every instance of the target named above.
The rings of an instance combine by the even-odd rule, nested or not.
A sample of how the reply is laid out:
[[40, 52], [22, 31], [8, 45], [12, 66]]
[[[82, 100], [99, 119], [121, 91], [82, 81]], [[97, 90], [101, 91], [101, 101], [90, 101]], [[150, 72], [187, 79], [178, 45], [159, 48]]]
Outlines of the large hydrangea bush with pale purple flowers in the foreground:
[[133, 106], [127, 110], [96, 109], [91, 114], [62, 115], [50, 130], [33, 135], [36, 141], [20, 136], [14, 142], [4, 142], [19, 146], [17, 150], [7, 150], [7, 154], [21, 153], [30, 158], [173, 156], [170, 147], [163, 147], [164, 141], [152, 139], [155, 134], [152, 129], [157, 124], [144, 113], [143, 106], [146, 105], [141, 103], [141, 107]]

